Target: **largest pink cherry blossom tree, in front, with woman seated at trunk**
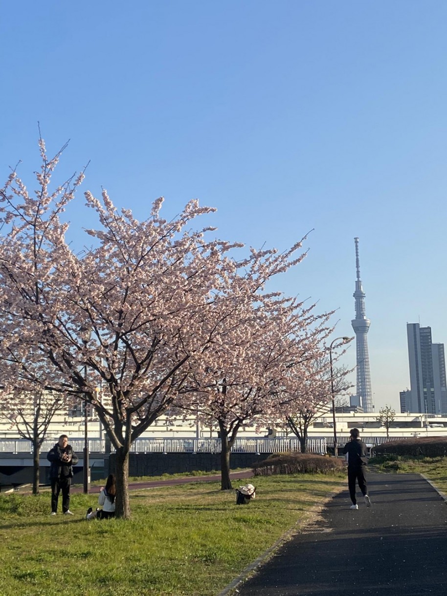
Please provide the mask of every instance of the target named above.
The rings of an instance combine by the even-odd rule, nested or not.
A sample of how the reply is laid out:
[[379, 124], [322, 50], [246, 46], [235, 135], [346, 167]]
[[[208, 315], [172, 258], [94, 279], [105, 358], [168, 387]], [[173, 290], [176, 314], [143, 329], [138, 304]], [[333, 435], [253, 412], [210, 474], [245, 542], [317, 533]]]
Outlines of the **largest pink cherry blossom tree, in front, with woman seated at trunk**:
[[[23, 389], [36, 391], [26, 370], [38, 359], [45, 362], [42, 389], [92, 405], [116, 451], [116, 513], [127, 518], [132, 442], [160, 415], [180, 402], [188, 405], [194, 394], [185, 387], [193, 373], [203, 383], [206, 371], [225, 370], [224, 353], [231, 361], [242, 357], [232, 350], [234, 338], [250, 333], [250, 316], [258, 311], [264, 312], [270, 343], [262, 348], [262, 366], [246, 375], [239, 397], [248, 401], [259, 395], [261, 403], [272, 393], [267, 387], [276, 383], [278, 388], [281, 377], [275, 378], [274, 363], [288, 347], [266, 322], [268, 309], [253, 308], [254, 297], [269, 277], [299, 261], [294, 253], [300, 244], [279, 256], [252, 250], [237, 261], [229, 253], [240, 244], [207, 240], [213, 228], [191, 229], [195, 218], [213, 209], [190, 201], [166, 221], [160, 198], [141, 222], [128, 209], [117, 212], [104, 190], [101, 199], [85, 193], [98, 228], [86, 230], [92, 247], [77, 254], [63, 213], [84, 172], [51, 190], [62, 150], [48, 159], [42, 139], [39, 146], [42, 166], [35, 193], [28, 192], [16, 169], [0, 190], [0, 378], [12, 381], [12, 356]], [[245, 324], [238, 331], [240, 313]], [[274, 308], [269, 316], [274, 318]], [[262, 327], [249, 337], [255, 342], [261, 336]], [[245, 349], [256, 361], [256, 349]], [[224, 394], [226, 384], [221, 379]], [[98, 386], [108, 399], [98, 400]], [[247, 416], [266, 409], [254, 402]], [[220, 424], [231, 429], [225, 415]], [[235, 426], [240, 427], [239, 420]]]

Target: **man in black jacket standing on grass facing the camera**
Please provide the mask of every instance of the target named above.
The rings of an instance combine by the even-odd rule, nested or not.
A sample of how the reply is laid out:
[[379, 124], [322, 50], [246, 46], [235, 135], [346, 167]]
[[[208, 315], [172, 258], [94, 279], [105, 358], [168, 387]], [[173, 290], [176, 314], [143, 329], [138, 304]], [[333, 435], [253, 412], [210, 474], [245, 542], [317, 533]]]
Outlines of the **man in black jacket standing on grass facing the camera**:
[[62, 512], [72, 516], [70, 511], [70, 485], [73, 478], [73, 465], [78, 462], [77, 455], [69, 445], [69, 437], [61, 434], [55, 446], [48, 451], [46, 459], [51, 462], [49, 476], [51, 478], [51, 515], [57, 513], [59, 493], [62, 491]]

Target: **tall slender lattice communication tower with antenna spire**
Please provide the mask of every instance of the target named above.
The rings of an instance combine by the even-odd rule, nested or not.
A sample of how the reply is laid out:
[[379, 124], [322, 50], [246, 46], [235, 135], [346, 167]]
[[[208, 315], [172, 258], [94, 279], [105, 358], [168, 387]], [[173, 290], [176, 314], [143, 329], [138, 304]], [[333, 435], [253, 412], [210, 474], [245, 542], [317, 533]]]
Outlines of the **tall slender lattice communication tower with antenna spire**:
[[355, 333], [357, 346], [357, 397], [360, 399], [364, 412], [373, 412], [373, 393], [371, 393], [370, 356], [368, 355], [367, 333], [370, 329], [370, 319], [365, 313], [365, 292], [360, 280], [359, 239], [355, 242], [355, 265], [357, 280], [355, 282], [355, 319], [351, 324]]

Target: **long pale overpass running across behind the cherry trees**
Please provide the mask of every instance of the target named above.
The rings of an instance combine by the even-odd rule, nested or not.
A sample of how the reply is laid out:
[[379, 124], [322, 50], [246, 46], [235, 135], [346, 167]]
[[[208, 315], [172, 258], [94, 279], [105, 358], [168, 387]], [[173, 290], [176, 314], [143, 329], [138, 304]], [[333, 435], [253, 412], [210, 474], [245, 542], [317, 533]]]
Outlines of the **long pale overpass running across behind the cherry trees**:
[[[339, 445], [349, 440], [350, 429], [356, 427], [361, 432], [361, 437], [369, 446], [378, 445], [390, 439], [402, 437], [425, 437], [425, 436], [446, 436], [447, 417], [432, 414], [396, 414], [389, 425], [389, 429], [377, 421], [377, 414], [374, 412], [336, 412], [336, 428], [339, 437]], [[42, 479], [48, 475], [49, 462], [46, 460], [46, 453], [57, 442], [58, 436], [62, 433], [69, 435], [69, 442], [79, 457], [79, 470], [82, 470], [83, 447], [85, 435], [83, 434], [84, 420], [81, 416], [76, 417], [55, 417], [48, 431], [48, 438], [41, 447], [40, 464], [42, 467]], [[328, 445], [333, 444], [333, 416], [327, 411], [315, 418], [308, 431], [308, 451], [316, 454], [325, 454]], [[105, 438], [105, 433], [100, 427], [98, 420], [93, 418], [88, 421], [88, 446], [91, 458], [92, 479], [104, 478], [109, 469], [110, 456], [113, 457], [113, 447], [110, 441]], [[131, 453], [135, 455], [160, 456], [157, 469], [163, 473], [163, 462], [167, 462], [167, 455], [177, 454], [179, 456], [191, 456], [188, 460], [190, 469], [205, 470], [206, 467], [194, 467], [193, 460], [197, 461], [196, 455], [209, 454], [206, 460], [201, 460], [204, 465], [212, 461], [212, 456], [218, 457], [221, 451], [221, 440], [216, 429], [201, 427], [195, 420], [182, 421], [176, 424], [167, 418], [161, 417], [148, 429], [144, 436], [139, 437], [132, 444]], [[232, 446], [231, 453], [233, 461], [240, 461], [241, 465], [250, 465], [249, 458], [243, 455], [252, 455], [253, 458], [263, 454], [278, 452], [299, 452], [300, 443], [297, 437], [287, 433], [287, 429], [278, 421], [272, 420], [271, 429], [265, 429], [261, 434], [256, 434], [254, 427], [243, 427]], [[177, 458], [181, 460], [181, 457]], [[5, 483], [3, 476], [9, 475], [13, 468], [32, 467], [32, 443], [20, 439], [17, 430], [0, 423], [0, 484]], [[198, 465], [198, 464], [197, 464]], [[211, 464], [210, 464], [211, 465]], [[169, 467], [169, 466], [167, 466]], [[172, 468], [170, 468], [172, 469]], [[215, 469], [215, 468], [214, 468]], [[138, 475], [138, 474], [135, 474]], [[144, 474], [146, 475], [146, 474]], [[148, 473], [147, 475], [150, 475]]]

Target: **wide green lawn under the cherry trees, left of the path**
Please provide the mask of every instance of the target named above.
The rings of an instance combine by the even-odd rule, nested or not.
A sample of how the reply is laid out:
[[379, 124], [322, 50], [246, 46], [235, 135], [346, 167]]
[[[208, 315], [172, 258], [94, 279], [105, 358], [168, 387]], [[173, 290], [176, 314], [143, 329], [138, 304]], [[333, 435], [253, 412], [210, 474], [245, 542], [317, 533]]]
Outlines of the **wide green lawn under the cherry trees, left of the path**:
[[91, 522], [94, 496], [73, 494], [67, 519], [49, 516], [48, 493], [0, 495], [0, 595], [215, 596], [345, 484], [344, 475], [262, 477], [248, 505], [218, 482], [140, 489], [131, 520]]

